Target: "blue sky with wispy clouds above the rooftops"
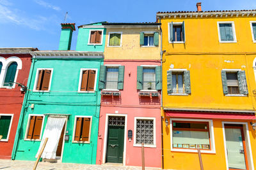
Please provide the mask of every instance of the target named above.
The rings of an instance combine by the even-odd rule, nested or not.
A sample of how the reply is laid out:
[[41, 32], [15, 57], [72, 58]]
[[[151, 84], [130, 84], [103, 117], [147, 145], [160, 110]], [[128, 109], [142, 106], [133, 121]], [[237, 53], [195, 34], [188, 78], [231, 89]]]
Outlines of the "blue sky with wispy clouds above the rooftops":
[[[155, 22], [157, 11], [252, 10], [255, 0], [0, 0], [0, 47], [58, 50], [60, 23]], [[77, 30], [71, 50], [76, 49]]]

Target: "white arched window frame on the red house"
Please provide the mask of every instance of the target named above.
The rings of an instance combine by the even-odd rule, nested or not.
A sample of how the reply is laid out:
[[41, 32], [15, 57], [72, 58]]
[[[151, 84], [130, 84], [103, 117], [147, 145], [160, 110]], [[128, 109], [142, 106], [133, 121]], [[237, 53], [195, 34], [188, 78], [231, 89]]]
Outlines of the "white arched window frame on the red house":
[[2, 62], [2, 64], [3, 64], [1, 74], [0, 74], [0, 88], [14, 89], [15, 85], [16, 85], [15, 83], [13, 83], [13, 85], [11, 87], [4, 86], [5, 76], [6, 76], [7, 69], [10, 66], [10, 64], [12, 64], [12, 62], [17, 62], [17, 69], [16, 69], [16, 73], [15, 73], [15, 78], [14, 78], [14, 82], [16, 82], [19, 70], [22, 69], [22, 60], [20, 60], [19, 57], [15, 57], [15, 56], [9, 57], [8, 59], [4, 59], [4, 57], [0, 57], [0, 62]]

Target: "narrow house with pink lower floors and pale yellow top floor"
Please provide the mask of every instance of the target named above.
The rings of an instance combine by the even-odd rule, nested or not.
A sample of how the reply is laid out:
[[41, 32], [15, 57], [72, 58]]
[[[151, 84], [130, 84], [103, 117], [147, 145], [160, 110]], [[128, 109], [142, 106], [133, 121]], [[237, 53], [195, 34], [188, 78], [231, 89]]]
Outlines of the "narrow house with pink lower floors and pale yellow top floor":
[[161, 55], [158, 23], [106, 28], [97, 164], [161, 167]]

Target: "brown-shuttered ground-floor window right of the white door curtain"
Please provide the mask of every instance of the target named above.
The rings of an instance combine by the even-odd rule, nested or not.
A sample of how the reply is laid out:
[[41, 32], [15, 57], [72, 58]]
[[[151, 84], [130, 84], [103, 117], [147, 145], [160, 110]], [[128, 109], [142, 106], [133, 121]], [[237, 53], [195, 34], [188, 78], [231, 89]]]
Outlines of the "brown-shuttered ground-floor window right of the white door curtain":
[[76, 117], [73, 141], [90, 143], [92, 117]]

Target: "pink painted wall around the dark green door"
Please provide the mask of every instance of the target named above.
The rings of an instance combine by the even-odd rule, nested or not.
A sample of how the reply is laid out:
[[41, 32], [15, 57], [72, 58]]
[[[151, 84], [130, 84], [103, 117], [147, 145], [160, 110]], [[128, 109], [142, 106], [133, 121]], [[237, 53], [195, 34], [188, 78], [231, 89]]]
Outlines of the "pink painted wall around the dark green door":
[[[156, 118], [156, 148], [145, 147], [145, 166], [161, 167], [161, 95], [159, 97], [140, 97], [136, 88], [137, 66], [157, 65], [160, 60], [104, 60], [104, 64], [125, 66], [124, 90], [116, 97], [102, 96], [100, 106], [99, 136], [97, 146], [97, 164], [102, 164], [106, 114], [126, 114], [127, 131], [132, 130], [132, 141], [126, 138], [126, 166], [141, 166], [141, 147], [134, 144], [134, 117]], [[129, 75], [129, 73], [131, 73]], [[159, 90], [159, 94], [161, 91]], [[116, 113], [118, 111], [118, 113]], [[124, 148], [125, 150], [125, 148]]]

